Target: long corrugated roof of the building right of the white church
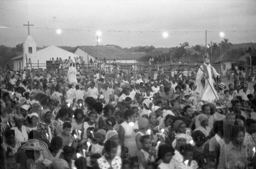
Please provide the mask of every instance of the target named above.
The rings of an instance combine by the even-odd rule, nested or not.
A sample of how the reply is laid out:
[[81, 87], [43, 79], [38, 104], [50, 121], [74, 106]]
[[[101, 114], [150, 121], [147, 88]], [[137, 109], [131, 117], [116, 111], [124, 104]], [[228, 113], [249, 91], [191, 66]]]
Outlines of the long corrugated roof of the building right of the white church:
[[[77, 48], [83, 50], [88, 53], [92, 57], [97, 57], [98, 59], [106, 59], [106, 60], [132, 60], [136, 59], [130, 53], [125, 52], [124, 50], [117, 49], [115, 46], [77, 46]], [[97, 52], [98, 51], [98, 52]]]

